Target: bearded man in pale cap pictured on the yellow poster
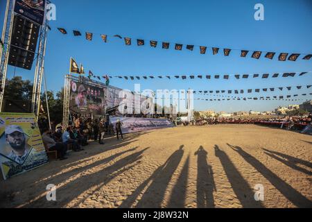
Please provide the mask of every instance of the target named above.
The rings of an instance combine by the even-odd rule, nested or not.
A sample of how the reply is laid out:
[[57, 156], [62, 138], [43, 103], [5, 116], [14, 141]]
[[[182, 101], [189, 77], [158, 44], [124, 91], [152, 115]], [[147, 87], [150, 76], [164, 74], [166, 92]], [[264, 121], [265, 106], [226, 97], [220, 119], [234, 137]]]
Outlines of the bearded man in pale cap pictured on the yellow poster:
[[6, 142], [11, 146], [12, 151], [8, 158], [18, 164], [23, 164], [28, 156], [29, 149], [26, 148], [26, 135], [24, 130], [17, 125], [6, 126]]

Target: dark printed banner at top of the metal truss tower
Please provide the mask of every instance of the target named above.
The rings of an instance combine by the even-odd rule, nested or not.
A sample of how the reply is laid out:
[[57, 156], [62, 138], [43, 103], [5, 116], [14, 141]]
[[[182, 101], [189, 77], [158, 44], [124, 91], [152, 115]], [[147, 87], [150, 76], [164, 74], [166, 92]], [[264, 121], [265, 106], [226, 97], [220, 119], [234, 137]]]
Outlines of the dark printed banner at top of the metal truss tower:
[[14, 12], [42, 26], [46, 15], [46, 0], [15, 0]]

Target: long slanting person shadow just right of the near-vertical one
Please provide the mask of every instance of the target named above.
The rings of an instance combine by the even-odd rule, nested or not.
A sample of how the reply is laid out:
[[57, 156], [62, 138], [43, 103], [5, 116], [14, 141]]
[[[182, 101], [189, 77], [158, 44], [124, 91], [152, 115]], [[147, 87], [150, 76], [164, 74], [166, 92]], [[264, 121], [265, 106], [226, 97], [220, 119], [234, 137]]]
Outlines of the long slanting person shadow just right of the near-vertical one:
[[263, 207], [259, 201], [254, 200], [253, 189], [250, 185], [248, 185], [248, 182], [245, 181], [243, 176], [241, 176], [241, 173], [239, 173], [238, 169], [236, 169], [227, 154], [224, 151], [221, 151], [217, 145], [214, 146], [214, 151], [216, 153], [216, 157], [220, 159], [225, 174], [227, 175], [227, 179], [229, 180], [235, 195], [239, 198], [241, 205], [244, 208]]

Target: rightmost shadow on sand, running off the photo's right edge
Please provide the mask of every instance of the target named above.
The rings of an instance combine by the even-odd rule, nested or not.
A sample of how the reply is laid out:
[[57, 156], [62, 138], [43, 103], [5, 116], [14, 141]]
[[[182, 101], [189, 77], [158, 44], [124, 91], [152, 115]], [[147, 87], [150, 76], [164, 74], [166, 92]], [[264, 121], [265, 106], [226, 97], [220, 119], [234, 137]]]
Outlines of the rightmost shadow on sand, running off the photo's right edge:
[[[278, 160], [279, 162], [282, 162], [283, 164], [285, 164], [288, 167], [291, 167], [292, 169], [295, 169], [295, 170], [300, 171], [302, 173], [306, 173], [307, 175], [312, 175], [311, 171], [297, 166], [297, 164], [302, 164], [302, 165], [304, 165], [306, 167], [310, 167], [312, 169], [312, 163], [311, 162], [308, 162], [306, 160], [300, 160], [296, 157], [292, 157], [292, 156], [286, 155], [284, 153], [269, 151], [266, 148], [263, 148], [263, 151], [265, 151], [264, 153], [266, 153], [266, 155], [274, 158], [275, 160]], [[285, 158], [286, 160], [284, 160], [283, 158]]]

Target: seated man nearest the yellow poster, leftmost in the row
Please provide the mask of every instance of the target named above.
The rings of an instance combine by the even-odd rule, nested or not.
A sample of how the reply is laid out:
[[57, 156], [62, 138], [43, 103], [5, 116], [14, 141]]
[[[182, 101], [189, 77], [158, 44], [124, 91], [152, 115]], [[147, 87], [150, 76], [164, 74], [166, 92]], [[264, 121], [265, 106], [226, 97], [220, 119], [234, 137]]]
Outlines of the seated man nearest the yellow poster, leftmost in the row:
[[58, 158], [60, 160], [66, 160], [67, 157], [64, 157], [64, 155], [67, 151], [67, 146], [64, 146], [64, 144], [60, 142], [55, 142], [55, 140], [52, 139], [51, 134], [51, 130], [47, 128], [44, 129], [44, 133], [42, 134], [44, 144], [48, 147], [49, 151], [58, 151]]

